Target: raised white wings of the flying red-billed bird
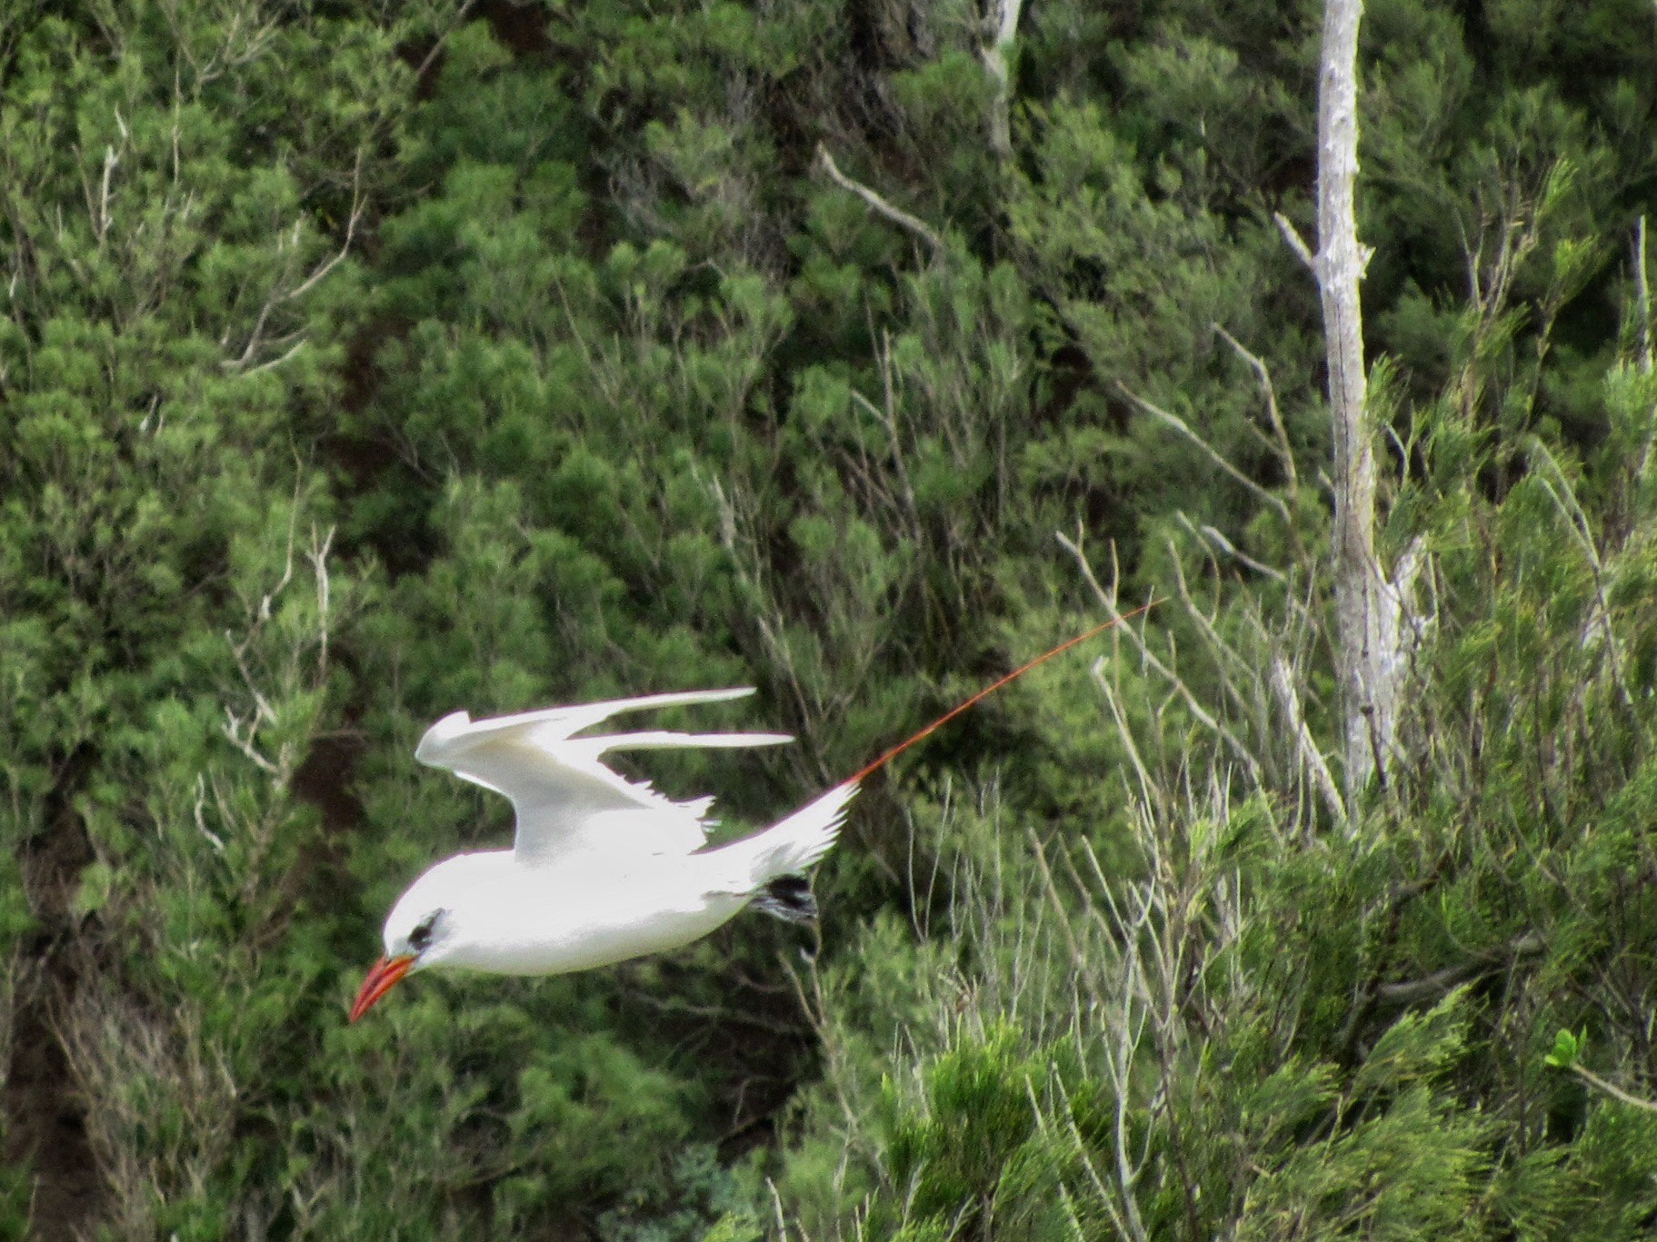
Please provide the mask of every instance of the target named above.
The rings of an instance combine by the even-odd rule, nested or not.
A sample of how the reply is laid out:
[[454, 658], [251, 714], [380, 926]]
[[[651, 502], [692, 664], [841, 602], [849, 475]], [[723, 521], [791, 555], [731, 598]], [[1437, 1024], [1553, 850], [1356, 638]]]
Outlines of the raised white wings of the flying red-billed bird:
[[626, 780], [600, 758], [610, 750], [666, 747], [756, 747], [792, 742], [787, 734], [608, 734], [573, 737], [611, 715], [646, 707], [722, 702], [752, 694], [684, 691], [640, 699], [548, 707], [540, 712], [472, 720], [466, 712], [442, 717], [426, 730], [414, 758], [504, 793], [517, 811], [512, 845], [524, 863], [547, 863], [575, 853], [689, 854], [708, 835], [713, 798], [673, 802], [643, 782]]

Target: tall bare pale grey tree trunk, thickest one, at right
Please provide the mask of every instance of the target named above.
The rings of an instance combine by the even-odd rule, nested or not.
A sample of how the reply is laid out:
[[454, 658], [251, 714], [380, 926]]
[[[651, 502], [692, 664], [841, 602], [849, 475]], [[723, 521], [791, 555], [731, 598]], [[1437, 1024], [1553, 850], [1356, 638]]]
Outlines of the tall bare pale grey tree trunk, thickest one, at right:
[[1336, 470], [1336, 669], [1345, 724], [1347, 805], [1370, 777], [1387, 778], [1408, 672], [1403, 603], [1415, 556], [1389, 583], [1375, 560], [1375, 452], [1365, 414], [1359, 282], [1369, 250], [1357, 240], [1357, 30], [1362, 0], [1326, 0], [1317, 78], [1317, 255], [1324, 305]]

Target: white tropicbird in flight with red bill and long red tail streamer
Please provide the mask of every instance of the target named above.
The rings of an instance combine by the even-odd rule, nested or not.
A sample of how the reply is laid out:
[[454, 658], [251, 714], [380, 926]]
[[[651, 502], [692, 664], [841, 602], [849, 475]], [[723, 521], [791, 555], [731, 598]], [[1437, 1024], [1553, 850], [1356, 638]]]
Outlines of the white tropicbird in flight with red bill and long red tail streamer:
[[792, 737], [577, 734], [626, 712], [724, 702], [752, 689], [650, 694], [490, 720], [472, 720], [466, 712], [442, 717], [426, 730], [414, 758], [510, 798], [517, 836], [510, 850], [446, 858], [409, 884], [386, 916], [386, 952], [363, 980], [350, 1020], [361, 1018], [414, 970], [567, 974], [676, 949], [749, 906], [795, 922], [814, 919], [817, 904], [804, 871], [828, 853], [868, 773], [1114, 623], [1009, 672], [771, 828], [711, 850], [713, 798], [674, 802], [605, 767], [603, 757], [616, 750], [779, 745]]

